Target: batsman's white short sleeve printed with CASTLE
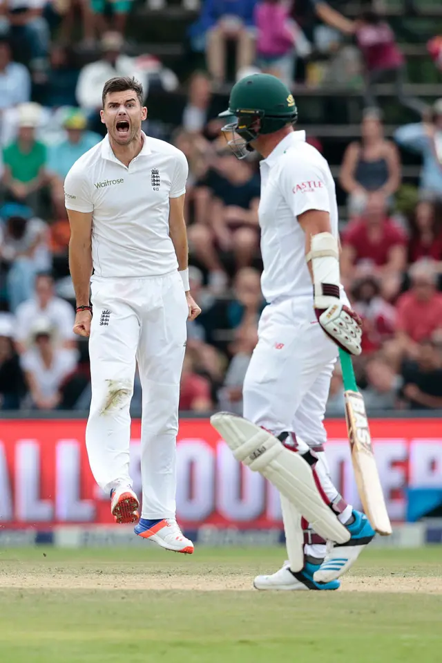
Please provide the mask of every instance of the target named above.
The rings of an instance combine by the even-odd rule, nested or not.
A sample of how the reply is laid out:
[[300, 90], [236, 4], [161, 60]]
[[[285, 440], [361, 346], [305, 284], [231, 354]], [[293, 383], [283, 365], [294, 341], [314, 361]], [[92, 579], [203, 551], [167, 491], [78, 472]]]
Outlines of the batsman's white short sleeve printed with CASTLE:
[[325, 173], [317, 165], [306, 163], [301, 170], [291, 169], [287, 163], [281, 175], [282, 194], [294, 216], [300, 216], [309, 209], [331, 212]]

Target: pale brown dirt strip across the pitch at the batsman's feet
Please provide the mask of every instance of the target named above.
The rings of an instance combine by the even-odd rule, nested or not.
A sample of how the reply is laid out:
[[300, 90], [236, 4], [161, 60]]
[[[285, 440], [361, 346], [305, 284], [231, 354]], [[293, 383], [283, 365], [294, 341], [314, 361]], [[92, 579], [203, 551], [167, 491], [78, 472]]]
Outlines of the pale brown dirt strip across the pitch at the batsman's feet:
[[[253, 591], [251, 577], [223, 575], [124, 576], [106, 574], [73, 574], [17, 571], [0, 575], [0, 590], [64, 589], [64, 590], [164, 590], [164, 591]], [[442, 578], [345, 577], [341, 592], [385, 592], [442, 595]]]

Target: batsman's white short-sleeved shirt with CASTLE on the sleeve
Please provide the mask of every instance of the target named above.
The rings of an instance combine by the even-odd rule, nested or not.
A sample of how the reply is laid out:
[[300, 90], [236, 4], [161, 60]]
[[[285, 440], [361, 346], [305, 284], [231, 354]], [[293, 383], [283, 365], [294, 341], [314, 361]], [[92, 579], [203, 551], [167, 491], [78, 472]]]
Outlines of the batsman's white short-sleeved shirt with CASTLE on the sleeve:
[[309, 209], [329, 212], [332, 234], [338, 237], [338, 205], [329, 165], [305, 142], [305, 131], [294, 131], [260, 162], [260, 170], [262, 294], [269, 303], [282, 297], [313, 297], [305, 233], [296, 217]]

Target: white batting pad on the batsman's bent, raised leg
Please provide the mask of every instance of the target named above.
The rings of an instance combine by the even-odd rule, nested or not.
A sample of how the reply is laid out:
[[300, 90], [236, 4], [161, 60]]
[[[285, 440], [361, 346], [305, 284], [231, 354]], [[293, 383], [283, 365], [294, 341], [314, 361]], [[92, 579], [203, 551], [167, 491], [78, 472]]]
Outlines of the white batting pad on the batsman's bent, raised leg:
[[302, 456], [286, 449], [271, 433], [229, 412], [214, 414], [210, 422], [236, 460], [265, 476], [309, 521], [315, 532], [336, 543], [349, 540], [348, 530], [323, 501], [311, 467]]

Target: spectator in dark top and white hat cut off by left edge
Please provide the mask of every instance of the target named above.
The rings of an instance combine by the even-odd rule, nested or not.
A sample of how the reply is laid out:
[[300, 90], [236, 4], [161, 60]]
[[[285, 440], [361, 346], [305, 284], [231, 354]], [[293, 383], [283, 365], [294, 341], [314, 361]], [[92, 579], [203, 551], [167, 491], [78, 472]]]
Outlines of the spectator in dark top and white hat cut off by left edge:
[[26, 391], [12, 337], [12, 316], [0, 314], [0, 410], [17, 410]]

